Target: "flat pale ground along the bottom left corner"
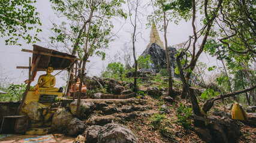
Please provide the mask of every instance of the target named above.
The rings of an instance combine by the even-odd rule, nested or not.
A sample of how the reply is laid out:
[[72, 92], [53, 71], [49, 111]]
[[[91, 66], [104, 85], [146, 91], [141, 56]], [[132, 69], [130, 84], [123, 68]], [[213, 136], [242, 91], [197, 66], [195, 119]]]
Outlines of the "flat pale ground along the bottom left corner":
[[[25, 142], [29, 142], [29, 141], [25, 141], [24, 139], [27, 138], [37, 138], [40, 135], [19, 135], [19, 134], [13, 134], [10, 136], [7, 136], [5, 138], [0, 139], [1, 143], [11, 143], [11, 142], [15, 142], [15, 143], [25, 143]], [[42, 136], [46, 136], [46, 135], [42, 135]], [[50, 139], [47, 141], [40, 141], [40, 142], [44, 142], [44, 143], [52, 143], [52, 142], [67, 142], [67, 143], [72, 143], [74, 142], [75, 138], [71, 137], [71, 136], [64, 136], [63, 134], [49, 134]], [[31, 139], [31, 141], [33, 141]], [[30, 141], [30, 142], [31, 142]], [[34, 141], [35, 142], [35, 141]]]

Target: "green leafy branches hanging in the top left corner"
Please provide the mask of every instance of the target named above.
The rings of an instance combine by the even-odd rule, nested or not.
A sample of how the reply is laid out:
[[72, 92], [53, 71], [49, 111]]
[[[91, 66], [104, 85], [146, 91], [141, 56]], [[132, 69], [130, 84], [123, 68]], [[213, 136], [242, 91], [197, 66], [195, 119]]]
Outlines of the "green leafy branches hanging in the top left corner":
[[37, 28], [38, 25], [41, 26], [41, 22], [38, 17], [39, 13], [35, 11], [36, 8], [32, 5], [35, 2], [35, 0], [2, 0], [0, 2], [1, 37], [8, 36], [5, 45], [21, 45], [18, 43], [20, 38], [26, 43], [40, 41], [37, 34], [35, 36], [28, 34], [28, 31], [33, 29], [36, 29], [37, 33], [42, 31]]

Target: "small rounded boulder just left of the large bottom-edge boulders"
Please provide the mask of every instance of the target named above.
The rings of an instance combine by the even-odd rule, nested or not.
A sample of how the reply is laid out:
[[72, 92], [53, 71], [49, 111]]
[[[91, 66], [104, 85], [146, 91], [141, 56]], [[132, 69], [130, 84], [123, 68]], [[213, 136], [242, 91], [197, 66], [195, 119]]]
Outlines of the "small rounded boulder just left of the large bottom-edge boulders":
[[83, 122], [77, 118], [73, 118], [70, 123], [68, 123], [66, 134], [70, 136], [75, 136], [83, 133], [84, 130], [85, 125], [83, 125]]

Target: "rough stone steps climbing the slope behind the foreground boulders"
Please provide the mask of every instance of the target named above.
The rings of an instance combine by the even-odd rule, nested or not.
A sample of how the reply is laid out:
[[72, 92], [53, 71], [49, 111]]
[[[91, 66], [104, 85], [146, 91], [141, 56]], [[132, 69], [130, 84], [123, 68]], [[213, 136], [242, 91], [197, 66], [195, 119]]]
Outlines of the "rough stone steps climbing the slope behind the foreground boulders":
[[146, 100], [137, 98], [83, 101], [94, 102], [94, 109], [91, 114], [88, 114], [88, 125], [125, 123], [138, 116], [150, 116], [156, 113], [150, 105], [147, 105]]

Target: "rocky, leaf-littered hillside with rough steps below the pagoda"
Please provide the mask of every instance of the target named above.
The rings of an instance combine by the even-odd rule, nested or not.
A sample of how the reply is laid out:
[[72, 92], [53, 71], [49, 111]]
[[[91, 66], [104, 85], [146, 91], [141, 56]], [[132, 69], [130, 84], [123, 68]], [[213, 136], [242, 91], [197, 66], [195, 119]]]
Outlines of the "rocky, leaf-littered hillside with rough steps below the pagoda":
[[[124, 91], [131, 91], [129, 82], [121, 82], [115, 79], [101, 79], [93, 83], [102, 83], [101, 91], [112, 91], [123, 94]], [[101, 80], [101, 82], [100, 82]], [[113, 83], [115, 83], [113, 85]], [[83, 100], [86, 109], [81, 115], [86, 125], [87, 131], [82, 133], [88, 138], [88, 129], [91, 126], [104, 126], [108, 123], [117, 123], [125, 128], [132, 130], [138, 142], [254, 142], [256, 141], [255, 123], [246, 123], [231, 119], [231, 104], [224, 105], [217, 101], [207, 117], [211, 120], [220, 120], [228, 123], [217, 125], [209, 121], [209, 126], [213, 126], [219, 132], [212, 130], [198, 129], [193, 125], [192, 108], [189, 99], [181, 99], [181, 82], [174, 80], [174, 91], [176, 98], [167, 97], [167, 81], [162, 79], [142, 79], [139, 80], [139, 92], [135, 97], [127, 99], [94, 99]], [[121, 91], [116, 92], [115, 87], [122, 87]], [[110, 88], [112, 87], [112, 88]], [[89, 89], [97, 91], [97, 89]], [[194, 92], [198, 96], [198, 102], [203, 104], [204, 100], [200, 95], [205, 89], [194, 87]], [[100, 89], [98, 90], [100, 91]], [[92, 92], [90, 92], [92, 93]], [[107, 92], [106, 92], [107, 93]], [[106, 94], [105, 93], [105, 94]], [[108, 93], [109, 94], [109, 93]], [[104, 95], [101, 93], [101, 95]], [[91, 98], [98, 96], [91, 95]], [[106, 97], [103, 97], [106, 98]], [[113, 98], [113, 96], [112, 96]], [[89, 105], [89, 106], [88, 106]], [[245, 108], [245, 107], [244, 107]], [[249, 119], [255, 120], [255, 108], [245, 108]], [[251, 113], [249, 113], [251, 112]], [[86, 136], [87, 135], [87, 136]]]

